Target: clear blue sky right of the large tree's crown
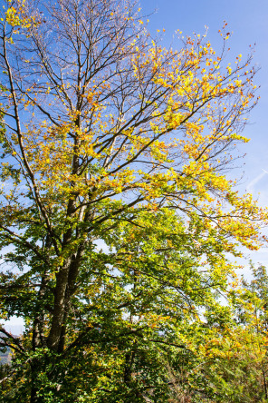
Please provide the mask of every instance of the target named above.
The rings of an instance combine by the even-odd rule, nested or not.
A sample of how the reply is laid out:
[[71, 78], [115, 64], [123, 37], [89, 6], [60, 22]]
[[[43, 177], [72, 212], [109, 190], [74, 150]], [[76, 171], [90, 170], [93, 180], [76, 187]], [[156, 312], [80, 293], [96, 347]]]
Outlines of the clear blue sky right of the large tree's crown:
[[[254, 64], [260, 67], [255, 84], [261, 85], [261, 98], [244, 131], [251, 141], [240, 147], [241, 154], [246, 155], [239, 162], [236, 177], [241, 177], [244, 172], [240, 190], [252, 192], [261, 205], [268, 205], [268, 1], [141, 0], [140, 4], [144, 14], [157, 10], [149, 16], [148, 29], [154, 34], [157, 29], [165, 28], [164, 43], [167, 46], [177, 29], [183, 34], [204, 34], [206, 25], [208, 39], [215, 49], [219, 49], [221, 38], [218, 30], [224, 21], [227, 22], [228, 32], [232, 33], [228, 41], [230, 59], [235, 59], [237, 54], [246, 57], [249, 45], [255, 44]], [[268, 248], [247, 253], [247, 257], [268, 267]], [[247, 265], [246, 260], [244, 264]], [[248, 274], [248, 270], [245, 270], [245, 274]]]

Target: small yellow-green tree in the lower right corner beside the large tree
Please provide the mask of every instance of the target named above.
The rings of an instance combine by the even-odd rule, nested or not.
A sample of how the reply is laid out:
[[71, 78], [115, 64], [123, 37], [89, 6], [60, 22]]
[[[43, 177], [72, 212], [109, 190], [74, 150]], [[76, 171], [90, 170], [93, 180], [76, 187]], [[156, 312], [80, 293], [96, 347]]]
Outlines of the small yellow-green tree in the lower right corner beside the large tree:
[[225, 315], [224, 329], [207, 340], [206, 359], [200, 359], [215, 401], [267, 401], [267, 272], [252, 262], [251, 269], [253, 280], [233, 283], [228, 303], [233, 312]]

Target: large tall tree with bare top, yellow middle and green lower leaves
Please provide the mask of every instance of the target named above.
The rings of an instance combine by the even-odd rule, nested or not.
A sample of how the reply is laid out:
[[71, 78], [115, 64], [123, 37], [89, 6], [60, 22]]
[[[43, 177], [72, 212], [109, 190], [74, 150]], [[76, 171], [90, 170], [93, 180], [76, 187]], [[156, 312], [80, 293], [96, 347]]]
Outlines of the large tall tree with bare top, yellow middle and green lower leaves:
[[167, 401], [225, 253], [258, 246], [266, 212], [225, 177], [251, 56], [225, 65], [228, 33], [219, 55], [199, 35], [165, 49], [144, 25], [133, 2], [5, 3], [0, 290], [26, 321], [1, 329], [5, 401]]

